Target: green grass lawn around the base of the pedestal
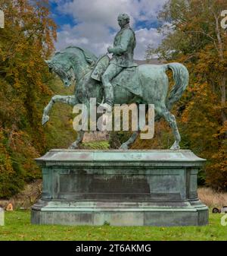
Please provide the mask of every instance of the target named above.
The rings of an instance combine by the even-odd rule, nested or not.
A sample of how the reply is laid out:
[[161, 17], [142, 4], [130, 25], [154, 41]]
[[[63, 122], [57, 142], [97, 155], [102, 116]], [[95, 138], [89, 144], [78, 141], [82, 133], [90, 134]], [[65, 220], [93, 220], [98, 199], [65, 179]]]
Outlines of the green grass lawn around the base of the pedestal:
[[0, 240], [227, 240], [222, 214], [210, 213], [208, 226], [117, 227], [117, 226], [37, 226], [30, 224], [30, 210], [5, 213]]

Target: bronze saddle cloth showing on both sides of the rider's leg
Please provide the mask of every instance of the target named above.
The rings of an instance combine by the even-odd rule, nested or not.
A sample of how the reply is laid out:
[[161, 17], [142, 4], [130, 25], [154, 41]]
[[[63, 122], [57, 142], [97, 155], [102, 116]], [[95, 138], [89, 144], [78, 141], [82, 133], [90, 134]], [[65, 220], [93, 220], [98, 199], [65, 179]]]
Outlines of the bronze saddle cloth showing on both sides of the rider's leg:
[[[104, 74], [104, 71], [106, 71], [109, 63], [110, 58], [107, 54], [98, 58], [97, 62], [95, 63], [95, 68], [91, 74], [92, 79], [101, 82], [101, 76]], [[113, 78], [111, 84], [113, 87], [124, 87], [126, 90], [129, 90], [129, 92], [135, 94], [136, 96], [142, 96], [138, 67], [124, 68], [120, 74]]]

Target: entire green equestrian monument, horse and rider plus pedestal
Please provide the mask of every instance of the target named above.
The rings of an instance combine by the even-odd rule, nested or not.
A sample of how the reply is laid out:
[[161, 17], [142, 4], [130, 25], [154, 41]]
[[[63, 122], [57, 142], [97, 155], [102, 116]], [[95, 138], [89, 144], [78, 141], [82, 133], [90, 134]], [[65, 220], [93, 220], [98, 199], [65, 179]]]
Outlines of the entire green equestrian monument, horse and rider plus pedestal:
[[[81, 103], [89, 110], [90, 99], [95, 98], [96, 107], [105, 106], [107, 112], [113, 104], [154, 104], [155, 121], [163, 118], [173, 130], [172, 150], [128, 150], [140, 131], [119, 151], [51, 150], [36, 160], [42, 166], [43, 191], [33, 205], [32, 223], [206, 225], [208, 209], [197, 198], [197, 172], [204, 160], [189, 150], [179, 150], [181, 137], [170, 112], [188, 85], [188, 70], [180, 63], [134, 65], [136, 43], [129, 15], [120, 14], [117, 20], [121, 29], [113, 47], [107, 48], [113, 54], [110, 60], [104, 56], [97, 62], [88, 50], [70, 46], [47, 61], [64, 86], [76, 80], [76, 90], [71, 96], [52, 97], [42, 124], [48, 122], [48, 113], [57, 102]], [[168, 69], [176, 83], [169, 94]], [[70, 149], [79, 147], [83, 134], [83, 130], [78, 132]]]

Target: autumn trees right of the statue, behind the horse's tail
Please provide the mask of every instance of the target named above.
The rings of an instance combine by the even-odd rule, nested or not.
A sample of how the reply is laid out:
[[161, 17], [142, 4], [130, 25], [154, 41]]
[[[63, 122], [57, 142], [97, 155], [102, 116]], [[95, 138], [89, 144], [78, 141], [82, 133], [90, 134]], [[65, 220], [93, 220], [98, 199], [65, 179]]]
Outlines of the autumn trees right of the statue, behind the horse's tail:
[[207, 158], [206, 182], [216, 189], [227, 189], [225, 9], [225, 0], [169, 0], [159, 14], [163, 42], [147, 51], [188, 68], [189, 86], [175, 111], [188, 147]]

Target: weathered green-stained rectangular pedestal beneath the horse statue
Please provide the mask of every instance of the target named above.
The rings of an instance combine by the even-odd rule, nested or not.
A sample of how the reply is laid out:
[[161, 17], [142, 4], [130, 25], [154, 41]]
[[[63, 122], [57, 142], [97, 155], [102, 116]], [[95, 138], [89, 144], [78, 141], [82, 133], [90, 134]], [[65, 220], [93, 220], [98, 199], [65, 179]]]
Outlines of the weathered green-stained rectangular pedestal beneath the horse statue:
[[51, 150], [32, 223], [114, 226], [207, 225], [197, 198], [204, 159], [190, 150]]

